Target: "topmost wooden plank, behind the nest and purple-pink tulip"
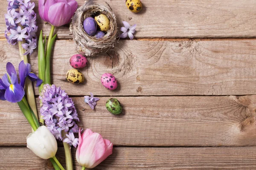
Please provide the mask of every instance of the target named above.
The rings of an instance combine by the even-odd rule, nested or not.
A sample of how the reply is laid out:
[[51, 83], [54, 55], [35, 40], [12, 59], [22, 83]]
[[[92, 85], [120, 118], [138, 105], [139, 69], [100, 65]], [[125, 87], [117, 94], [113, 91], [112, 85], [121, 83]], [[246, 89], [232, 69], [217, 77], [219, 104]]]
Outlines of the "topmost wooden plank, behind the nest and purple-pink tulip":
[[[3, 1], [4, 2], [4, 1]], [[105, 0], [95, 0], [105, 4]], [[116, 14], [118, 27], [122, 21], [137, 24], [136, 38], [170, 37], [255, 37], [255, 0], [143, 0], [143, 11], [134, 14], [124, 0], [106, 0]], [[35, 1], [38, 13], [38, 1]], [[84, 0], [78, 0], [79, 6]], [[0, 34], [6, 29], [6, 6], [0, 6]], [[48, 35], [50, 26], [38, 15], [39, 29]], [[68, 25], [57, 28], [58, 38], [71, 38]]]

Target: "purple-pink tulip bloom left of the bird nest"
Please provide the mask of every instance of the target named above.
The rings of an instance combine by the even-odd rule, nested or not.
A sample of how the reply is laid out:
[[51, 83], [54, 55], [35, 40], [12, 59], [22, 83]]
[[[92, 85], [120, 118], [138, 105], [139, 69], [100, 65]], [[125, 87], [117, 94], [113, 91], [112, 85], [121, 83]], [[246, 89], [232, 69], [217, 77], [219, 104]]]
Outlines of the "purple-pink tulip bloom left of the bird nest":
[[52, 26], [67, 24], [77, 9], [76, 0], [39, 0], [40, 17]]

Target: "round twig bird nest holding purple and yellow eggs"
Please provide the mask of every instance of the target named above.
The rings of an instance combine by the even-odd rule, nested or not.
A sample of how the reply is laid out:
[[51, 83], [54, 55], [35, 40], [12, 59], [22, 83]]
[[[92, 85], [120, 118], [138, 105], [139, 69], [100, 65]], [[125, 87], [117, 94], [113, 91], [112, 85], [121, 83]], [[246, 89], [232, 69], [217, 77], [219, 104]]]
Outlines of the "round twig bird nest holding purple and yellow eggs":
[[[105, 32], [105, 36], [101, 39], [89, 36], [84, 31], [83, 26], [84, 20], [87, 17], [94, 18], [99, 14], [105, 14], [110, 20], [110, 29]], [[76, 42], [76, 51], [85, 56], [94, 56], [107, 52], [108, 49], [115, 47], [118, 41], [117, 37], [119, 37], [116, 16], [113, 14], [110, 6], [108, 8], [103, 5], [93, 4], [92, 0], [85, 2], [83, 6], [77, 9], [76, 14], [72, 17], [70, 32], [72, 33], [73, 40]]]

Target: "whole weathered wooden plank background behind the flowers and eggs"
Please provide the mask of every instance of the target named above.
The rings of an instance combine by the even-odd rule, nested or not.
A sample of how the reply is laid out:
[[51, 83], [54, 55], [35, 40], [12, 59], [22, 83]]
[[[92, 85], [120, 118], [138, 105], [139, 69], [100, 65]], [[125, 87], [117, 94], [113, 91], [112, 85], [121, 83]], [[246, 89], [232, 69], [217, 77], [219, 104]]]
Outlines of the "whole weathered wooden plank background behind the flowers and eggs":
[[[7, 62], [16, 68], [20, 62], [17, 46], [4, 38], [2, 2], [0, 77]], [[55, 31], [52, 59], [53, 83], [73, 97], [79, 126], [114, 144], [113, 155], [94, 169], [256, 169], [255, 0], [142, 0], [139, 14], [128, 11], [124, 0], [106, 2], [119, 27], [123, 20], [137, 24], [135, 40], [119, 40], [108, 54], [88, 58], [82, 85], [65, 80], [76, 54], [68, 25]], [[39, 15], [37, 22], [48, 34], [49, 24]], [[37, 51], [29, 60], [37, 73]], [[116, 91], [101, 85], [105, 72], [118, 79]], [[90, 92], [100, 98], [95, 111], [83, 101]], [[124, 106], [119, 116], [105, 108], [112, 96]], [[0, 170], [52, 170], [26, 148], [30, 132], [17, 104], [0, 101]], [[60, 144], [57, 157], [64, 164], [63, 155]]]

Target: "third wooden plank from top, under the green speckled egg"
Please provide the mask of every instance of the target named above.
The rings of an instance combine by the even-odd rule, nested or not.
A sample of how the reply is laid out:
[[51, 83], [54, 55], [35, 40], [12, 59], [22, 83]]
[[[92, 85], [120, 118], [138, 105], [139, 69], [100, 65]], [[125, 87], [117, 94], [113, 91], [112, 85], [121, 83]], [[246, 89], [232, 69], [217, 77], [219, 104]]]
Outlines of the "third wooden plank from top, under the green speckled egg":
[[[124, 107], [119, 116], [106, 110], [105, 102], [109, 98], [100, 97], [95, 111], [84, 103], [83, 97], [73, 100], [79, 113], [79, 126], [101, 133], [114, 145], [256, 144], [256, 95], [116, 97]], [[31, 129], [19, 108], [3, 101], [0, 105], [0, 145], [26, 145]]]

